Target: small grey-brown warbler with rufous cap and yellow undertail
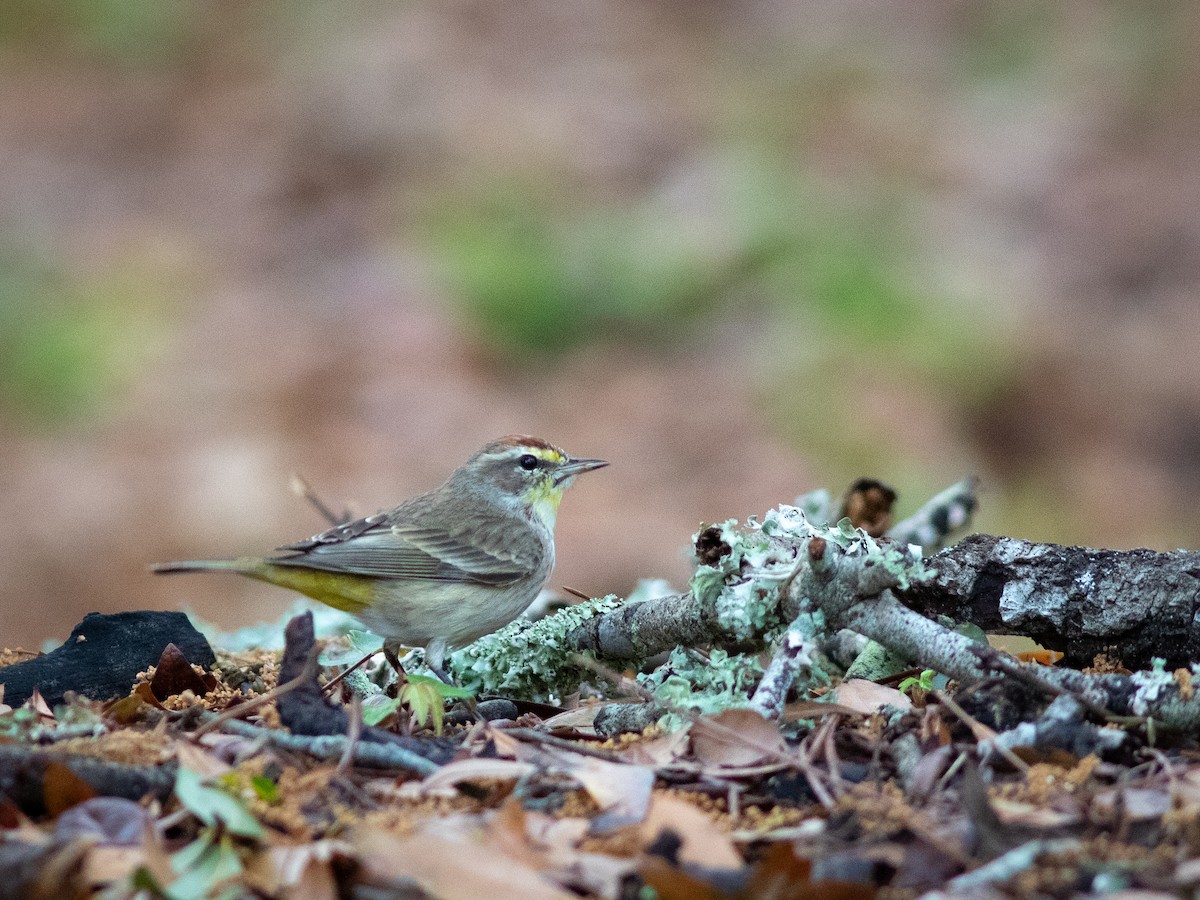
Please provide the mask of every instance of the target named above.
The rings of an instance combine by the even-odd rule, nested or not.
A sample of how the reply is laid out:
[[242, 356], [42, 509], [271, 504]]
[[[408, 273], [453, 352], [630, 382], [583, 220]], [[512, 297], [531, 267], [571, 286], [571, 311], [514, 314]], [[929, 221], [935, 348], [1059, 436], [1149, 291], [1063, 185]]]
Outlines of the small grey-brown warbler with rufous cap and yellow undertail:
[[554, 568], [563, 491], [607, 464], [512, 434], [484, 446], [440, 487], [274, 556], [151, 570], [223, 570], [299, 590], [355, 616], [391, 653], [425, 647], [440, 674], [448, 649], [506, 625], [538, 596]]

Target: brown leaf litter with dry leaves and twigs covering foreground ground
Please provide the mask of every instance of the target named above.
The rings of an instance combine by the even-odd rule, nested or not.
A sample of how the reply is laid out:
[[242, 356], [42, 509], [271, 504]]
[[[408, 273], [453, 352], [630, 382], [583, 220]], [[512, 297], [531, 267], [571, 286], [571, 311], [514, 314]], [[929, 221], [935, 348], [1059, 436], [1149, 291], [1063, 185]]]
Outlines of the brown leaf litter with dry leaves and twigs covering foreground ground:
[[593, 728], [595, 700], [492, 721], [472, 704], [445, 716], [397, 704], [391, 733], [415, 742], [397, 746], [437, 752], [388, 764], [384, 742], [368, 764], [368, 726], [358, 746], [278, 739], [288, 695], [258, 701], [281, 671], [276, 652], [218, 650], [205, 671], [168, 648], [125, 698], [52, 707], [35, 692], [0, 709], [10, 893], [786, 900], [1200, 887], [1188, 736], [1006, 756], [979, 706], [966, 712], [952, 690], [914, 685], [914, 703], [835, 678], [779, 721], [727, 708], [608, 739]]

